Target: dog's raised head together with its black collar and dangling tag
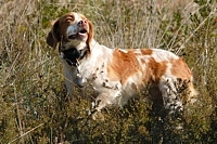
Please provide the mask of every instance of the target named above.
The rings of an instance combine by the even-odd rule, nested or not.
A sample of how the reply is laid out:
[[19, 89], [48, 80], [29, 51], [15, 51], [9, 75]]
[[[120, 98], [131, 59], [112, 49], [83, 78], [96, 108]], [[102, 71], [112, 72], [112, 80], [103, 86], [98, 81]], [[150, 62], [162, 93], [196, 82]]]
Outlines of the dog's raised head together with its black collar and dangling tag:
[[[56, 48], [61, 56], [71, 66], [77, 67], [77, 61], [82, 58], [87, 52], [90, 52], [90, 43], [93, 39], [93, 26], [82, 14], [69, 12], [53, 22], [52, 28], [48, 34], [47, 43]], [[81, 87], [84, 79], [75, 68], [74, 82]]]

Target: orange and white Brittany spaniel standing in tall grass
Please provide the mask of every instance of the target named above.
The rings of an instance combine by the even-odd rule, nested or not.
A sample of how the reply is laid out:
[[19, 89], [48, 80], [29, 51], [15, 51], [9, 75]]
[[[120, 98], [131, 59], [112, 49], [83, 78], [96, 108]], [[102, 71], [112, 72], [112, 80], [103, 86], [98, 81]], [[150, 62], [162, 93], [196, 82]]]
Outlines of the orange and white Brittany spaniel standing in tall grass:
[[[93, 39], [92, 23], [82, 14], [69, 12], [54, 22], [47, 43], [55, 48], [64, 65], [68, 94], [73, 84], [89, 83], [99, 92], [95, 112], [107, 105], [123, 106], [150, 88], [150, 96], [162, 99], [165, 109], [182, 110], [177, 81], [188, 81], [188, 100], [196, 95], [193, 77], [186, 62], [161, 49], [110, 49]], [[148, 84], [150, 87], [148, 87]]]

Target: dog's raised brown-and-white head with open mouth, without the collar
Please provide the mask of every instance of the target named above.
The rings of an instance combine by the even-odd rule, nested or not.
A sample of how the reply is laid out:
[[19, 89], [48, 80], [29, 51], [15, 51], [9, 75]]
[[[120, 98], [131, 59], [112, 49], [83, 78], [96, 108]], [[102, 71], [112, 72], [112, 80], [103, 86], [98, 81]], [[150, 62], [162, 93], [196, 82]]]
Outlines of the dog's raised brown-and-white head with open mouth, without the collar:
[[92, 23], [80, 13], [69, 12], [53, 23], [47, 43], [52, 48], [61, 42], [65, 49], [90, 49], [92, 38]]

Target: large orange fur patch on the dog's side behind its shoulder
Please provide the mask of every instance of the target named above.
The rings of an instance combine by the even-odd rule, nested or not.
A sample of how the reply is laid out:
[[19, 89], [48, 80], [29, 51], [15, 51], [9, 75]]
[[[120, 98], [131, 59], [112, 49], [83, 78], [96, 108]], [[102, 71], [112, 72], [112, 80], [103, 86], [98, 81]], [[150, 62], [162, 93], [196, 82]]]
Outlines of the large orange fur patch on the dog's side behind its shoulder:
[[139, 62], [135, 53], [125, 53], [118, 49], [114, 51], [113, 60], [107, 67], [110, 80], [119, 80], [122, 83], [125, 83], [138, 70]]

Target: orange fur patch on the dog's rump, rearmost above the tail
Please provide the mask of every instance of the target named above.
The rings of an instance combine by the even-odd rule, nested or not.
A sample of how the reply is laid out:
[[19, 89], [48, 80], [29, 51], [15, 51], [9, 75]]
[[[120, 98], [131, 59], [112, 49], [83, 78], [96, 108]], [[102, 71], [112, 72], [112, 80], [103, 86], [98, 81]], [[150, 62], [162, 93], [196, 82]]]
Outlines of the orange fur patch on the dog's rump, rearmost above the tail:
[[171, 61], [171, 74], [178, 78], [190, 80], [192, 77], [191, 70], [183, 61], [183, 58], [173, 60]]

